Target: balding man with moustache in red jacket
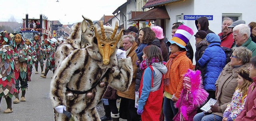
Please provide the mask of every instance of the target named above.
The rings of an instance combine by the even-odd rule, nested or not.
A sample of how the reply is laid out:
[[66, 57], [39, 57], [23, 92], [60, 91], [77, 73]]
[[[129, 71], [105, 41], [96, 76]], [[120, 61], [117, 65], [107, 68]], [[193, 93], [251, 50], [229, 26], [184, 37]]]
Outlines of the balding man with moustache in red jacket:
[[235, 45], [233, 35], [232, 35], [232, 29], [228, 28], [228, 26], [230, 26], [232, 23], [233, 21], [228, 17], [225, 17], [223, 19], [222, 32], [218, 34], [221, 40], [220, 42], [221, 47], [232, 48]]

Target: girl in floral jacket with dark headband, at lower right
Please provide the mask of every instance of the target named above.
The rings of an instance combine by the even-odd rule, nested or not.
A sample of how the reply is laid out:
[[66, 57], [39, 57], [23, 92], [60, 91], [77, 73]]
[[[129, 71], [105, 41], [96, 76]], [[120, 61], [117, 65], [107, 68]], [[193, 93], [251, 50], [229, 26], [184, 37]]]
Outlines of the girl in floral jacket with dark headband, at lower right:
[[232, 101], [227, 105], [223, 113], [222, 121], [234, 121], [238, 114], [244, 109], [244, 104], [247, 98], [248, 87], [252, 84], [252, 79], [249, 77], [249, 71], [245, 68], [240, 68], [238, 72], [237, 87]]

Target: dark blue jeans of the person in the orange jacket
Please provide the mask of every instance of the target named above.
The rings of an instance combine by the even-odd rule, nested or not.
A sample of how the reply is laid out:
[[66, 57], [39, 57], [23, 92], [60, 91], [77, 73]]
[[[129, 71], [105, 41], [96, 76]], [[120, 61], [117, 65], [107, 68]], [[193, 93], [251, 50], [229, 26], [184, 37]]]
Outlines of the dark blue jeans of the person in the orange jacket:
[[178, 108], [174, 107], [174, 103], [171, 99], [164, 97], [164, 116], [166, 121], [172, 121], [178, 113]]

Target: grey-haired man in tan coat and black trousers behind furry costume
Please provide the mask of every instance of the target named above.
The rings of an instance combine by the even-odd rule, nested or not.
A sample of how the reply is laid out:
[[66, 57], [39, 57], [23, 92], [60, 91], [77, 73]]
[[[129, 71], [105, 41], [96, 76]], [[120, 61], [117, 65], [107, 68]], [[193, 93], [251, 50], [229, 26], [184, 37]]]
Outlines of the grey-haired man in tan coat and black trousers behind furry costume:
[[140, 115], [137, 114], [137, 109], [134, 107], [135, 105], [135, 80], [137, 73], [136, 60], [138, 57], [135, 53], [135, 49], [137, 48], [137, 43], [135, 42], [135, 38], [132, 35], [124, 35], [123, 36], [123, 47], [126, 51], [126, 56], [131, 57], [132, 66], [133, 66], [133, 76], [132, 83], [126, 92], [117, 91], [117, 95], [121, 97], [119, 114], [120, 118], [127, 119], [127, 121], [140, 121]]

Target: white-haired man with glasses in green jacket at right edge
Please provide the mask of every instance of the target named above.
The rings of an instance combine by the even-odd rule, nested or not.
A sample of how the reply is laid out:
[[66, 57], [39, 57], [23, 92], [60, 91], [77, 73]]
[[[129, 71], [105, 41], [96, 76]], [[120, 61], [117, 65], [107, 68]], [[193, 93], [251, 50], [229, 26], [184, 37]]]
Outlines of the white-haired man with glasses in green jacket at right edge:
[[236, 47], [243, 46], [252, 51], [252, 57], [256, 56], [256, 43], [250, 37], [250, 27], [245, 24], [236, 25], [233, 28], [233, 39], [236, 41]]

